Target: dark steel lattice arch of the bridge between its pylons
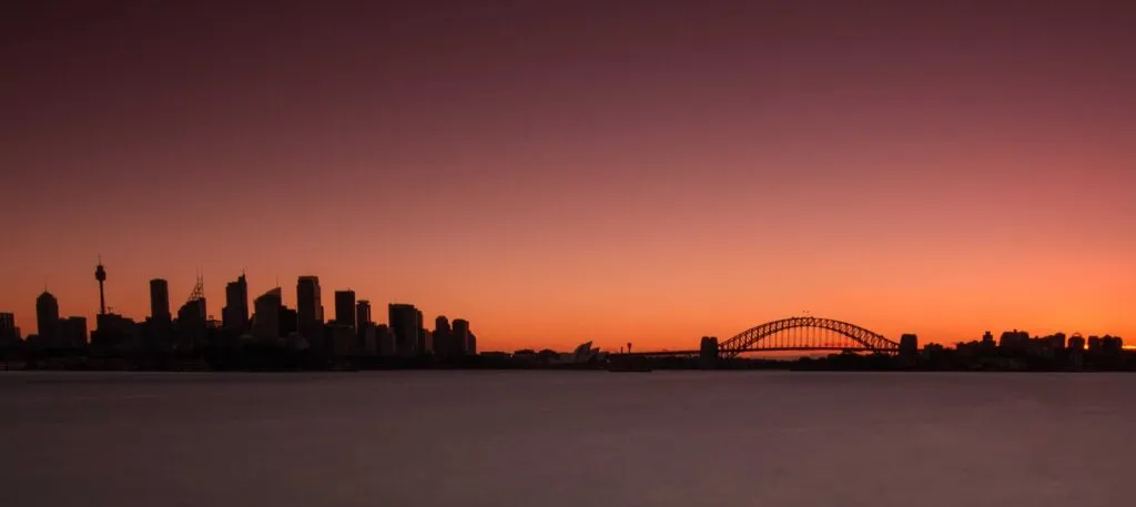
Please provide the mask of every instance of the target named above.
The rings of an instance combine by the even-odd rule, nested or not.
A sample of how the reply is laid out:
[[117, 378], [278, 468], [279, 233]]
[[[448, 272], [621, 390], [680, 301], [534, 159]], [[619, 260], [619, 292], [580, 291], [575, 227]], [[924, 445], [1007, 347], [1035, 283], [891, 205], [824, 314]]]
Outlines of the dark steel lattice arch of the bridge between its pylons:
[[[900, 349], [900, 344], [891, 341], [879, 333], [860, 327], [855, 324], [850, 324], [843, 321], [835, 321], [832, 318], [821, 317], [790, 317], [783, 318], [780, 321], [767, 322], [765, 324], [750, 327], [734, 338], [721, 342], [718, 346], [719, 357], [735, 357], [742, 352], [753, 351], [753, 350], [776, 350], [785, 349], [783, 347], [761, 347], [761, 341], [766, 338], [772, 336], [774, 334], [780, 333], [788, 330], [820, 330], [837, 333], [859, 344], [862, 350], [869, 350], [874, 352], [896, 352]], [[800, 347], [799, 350], [809, 349], [824, 349], [826, 347]]]

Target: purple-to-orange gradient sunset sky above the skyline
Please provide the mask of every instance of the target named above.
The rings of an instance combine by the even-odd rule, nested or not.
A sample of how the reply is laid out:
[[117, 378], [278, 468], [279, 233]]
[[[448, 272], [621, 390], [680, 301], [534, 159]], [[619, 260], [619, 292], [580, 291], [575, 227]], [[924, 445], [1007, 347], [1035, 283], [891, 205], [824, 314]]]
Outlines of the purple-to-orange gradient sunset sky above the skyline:
[[1125, 2], [166, 3], [2, 8], [25, 333], [44, 284], [93, 324], [101, 254], [135, 318], [316, 274], [482, 349], [1136, 339]]

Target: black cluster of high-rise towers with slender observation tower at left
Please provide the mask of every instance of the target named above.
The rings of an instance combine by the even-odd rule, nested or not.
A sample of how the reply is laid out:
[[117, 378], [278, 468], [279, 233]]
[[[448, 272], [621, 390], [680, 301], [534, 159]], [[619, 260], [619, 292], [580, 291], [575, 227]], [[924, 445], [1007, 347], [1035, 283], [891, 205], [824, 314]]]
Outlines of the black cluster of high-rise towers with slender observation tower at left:
[[150, 281], [150, 316], [143, 322], [107, 310], [102, 286], [106, 271], [95, 271], [100, 308], [95, 329], [87, 340], [84, 317], [59, 316], [58, 300], [44, 292], [36, 299], [39, 332], [25, 341], [15, 316], [0, 313], [0, 348], [20, 342], [37, 350], [184, 352], [223, 344], [260, 344], [307, 350], [325, 356], [460, 357], [477, 354], [477, 338], [469, 322], [445, 316], [427, 330], [423, 313], [414, 305], [387, 306], [386, 323], [375, 322], [370, 301], [356, 299], [354, 291], [334, 291], [334, 315], [325, 318], [323, 293], [317, 276], [296, 281], [296, 307], [284, 306], [281, 288], [249, 301], [249, 285], [242, 274], [225, 286], [225, 306], [218, 322], [208, 316], [202, 280], [177, 313], [170, 310], [169, 284]]

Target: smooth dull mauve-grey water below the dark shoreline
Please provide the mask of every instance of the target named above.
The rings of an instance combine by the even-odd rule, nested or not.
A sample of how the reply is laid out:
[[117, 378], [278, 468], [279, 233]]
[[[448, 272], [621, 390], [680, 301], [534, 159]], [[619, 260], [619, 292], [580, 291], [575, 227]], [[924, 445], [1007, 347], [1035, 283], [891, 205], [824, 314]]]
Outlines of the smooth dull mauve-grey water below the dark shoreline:
[[1136, 375], [2, 374], [3, 506], [1131, 506]]

